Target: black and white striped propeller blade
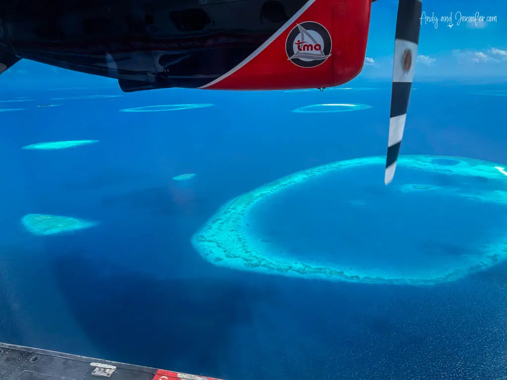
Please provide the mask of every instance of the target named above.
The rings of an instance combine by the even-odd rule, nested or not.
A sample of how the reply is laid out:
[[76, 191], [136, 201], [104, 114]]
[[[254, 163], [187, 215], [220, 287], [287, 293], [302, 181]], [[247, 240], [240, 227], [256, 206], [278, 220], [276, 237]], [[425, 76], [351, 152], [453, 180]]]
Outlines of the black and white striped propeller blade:
[[421, 12], [422, 0], [399, 0], [394, 42], [389, 140], [384, 177], [386, 185], [394, 177], [396, 161], [400, 154], [419, 45]]

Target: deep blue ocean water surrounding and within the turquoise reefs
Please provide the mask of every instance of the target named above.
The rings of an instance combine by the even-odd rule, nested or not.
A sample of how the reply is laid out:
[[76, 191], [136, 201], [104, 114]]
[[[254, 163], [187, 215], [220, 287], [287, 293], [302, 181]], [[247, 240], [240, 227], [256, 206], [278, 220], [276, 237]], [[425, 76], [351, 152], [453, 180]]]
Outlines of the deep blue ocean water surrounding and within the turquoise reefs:
[[[123, 94], [114, 86], [31, 86], [4, 91], [0, 100], [17, 101], [0, 108], [21, 110], [0, 113], [5, 136], [0, 140], [0, 340], [227, 380], [507, 376], [505, 262], [438, 285], [362, 284], [228, 269], [192, 246], [193, 234], [241, 194], [314, 166], [385, 154], [389, 83], [347, 87], [369, 90]], [[483, 93], [504, 88], [414, 87], [403, 155], [507, 164], [504, 98]], [[370, 107], [293, 112], [329, 103]], [[58, 105], [37, 107], [42, 104]], [[174, 104], [212, 105], [121, 111]], [[99, 142], [21, 149], [62, 140]], [[173, 179], [189, 173], [195, 176]], [[393, 186], [403, 183], [402, 171], [397, 174]], [[326, 260], [333, 260], [336, 241], [346, 239], [354, 255], [354, 246], [368, 237], [352, 207], [369, 213], [363, 220], [369, 220], [364, 227], [370, 237], [381, 235], [392, 215], [378, 192], [370, 191], [368, 199], [349, 198], [353, 175], [314, 183], [307, 196], [304, 188], [287, 194], [279, 212], [265, 219], [259, 215], [259, 224], [265, 220], [259, 228], [277, 233], [269, 223], [293, 222], [292, 229], [272, 238], [290, 246], [304, 237], [306, 245], [295, 245], [298, 254], [318, 247]], [[356, 175], [369, 176], [374, 189], [385, 191], [381, 168]], [[431, 229], [432, 214], [422, 204], [419, 213], [407, 212], [403, 202], [412, 204], [416, 195], [404, 196], [398, 202], [390, 194], [388, 201], [399, 205], [404, 231], [416, 235], [418, 230], [439, 245], [449, 239], [442, 228], [455, 228], [452, 241], [443, 243], [458, 247], [458, 256], [505, 229], [500, 206], [466, 203], [464, 213], [464, 201], [443, 197], [432, 202], [439, 206], [435, 212], [445, 209], [446, 219], [432, 224], [441, 230]], [[344, 200], [362, 201], [347, 205], [346, 230], [337, 222]], [[26, 214], [97, 224], [37, 236], [21, 223]], [[394, 241], [394, 256], [383, 252], [385, 263], [400, 263], [405, 244]], [[404, 261], [408, 268], [442, 258], [431, 244], [416, 248], [411, 246], [412, 258]], [[348, 259], [384, 263], [373, 253]]]

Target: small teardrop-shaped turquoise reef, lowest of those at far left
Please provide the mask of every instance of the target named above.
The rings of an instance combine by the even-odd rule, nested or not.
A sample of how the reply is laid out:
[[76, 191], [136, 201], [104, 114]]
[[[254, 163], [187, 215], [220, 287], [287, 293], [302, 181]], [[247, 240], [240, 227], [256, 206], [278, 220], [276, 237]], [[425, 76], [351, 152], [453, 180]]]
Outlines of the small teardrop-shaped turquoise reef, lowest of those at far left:
[[21, 223], [29, 233], [38, 236], [84, 230], [98, 224], [84, 219], [45, 214], [27, 214], [21, 218]]

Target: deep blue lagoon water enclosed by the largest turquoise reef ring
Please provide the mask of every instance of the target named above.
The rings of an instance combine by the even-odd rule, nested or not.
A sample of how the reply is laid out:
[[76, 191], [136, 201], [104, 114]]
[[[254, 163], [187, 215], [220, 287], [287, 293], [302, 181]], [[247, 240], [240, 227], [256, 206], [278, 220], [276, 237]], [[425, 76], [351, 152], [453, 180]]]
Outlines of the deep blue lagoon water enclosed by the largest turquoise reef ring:
[[[338, 170], [268, 197], [249, 212], [249, 230], [285, 259], [387, 278], [432, 278], [474, 266], [488, 242], [506, 240], [507, 204], [463, 195], [505, 191], [507, 178], [401, 167], [386, 187], [376, 178], [382, 164]], [[443, 183], [456, 190], [403, 191], [407, 184]]]

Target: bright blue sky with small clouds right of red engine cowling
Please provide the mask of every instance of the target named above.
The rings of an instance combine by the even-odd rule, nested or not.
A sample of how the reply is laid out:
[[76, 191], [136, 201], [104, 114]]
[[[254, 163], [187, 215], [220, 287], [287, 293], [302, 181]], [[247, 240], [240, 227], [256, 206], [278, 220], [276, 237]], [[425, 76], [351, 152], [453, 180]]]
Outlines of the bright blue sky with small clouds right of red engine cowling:
[[[507, 3], [500, 0], [423, 0], [416, 80], [507, 81]], [[396, 0], [372, 4], [370, 36], [362, 78], [390, 78], [394, 51]], [[453, 26], [442, 21], [451, 16]], [[459, 16], [484, 17], [459, 22]], [[430, 18], [438, 20], [434, 23]], [[491, 18], [489, 22], [488, 17]], [[433, 18], [433, 19], [434, 19]]]

